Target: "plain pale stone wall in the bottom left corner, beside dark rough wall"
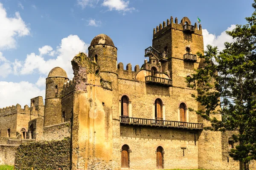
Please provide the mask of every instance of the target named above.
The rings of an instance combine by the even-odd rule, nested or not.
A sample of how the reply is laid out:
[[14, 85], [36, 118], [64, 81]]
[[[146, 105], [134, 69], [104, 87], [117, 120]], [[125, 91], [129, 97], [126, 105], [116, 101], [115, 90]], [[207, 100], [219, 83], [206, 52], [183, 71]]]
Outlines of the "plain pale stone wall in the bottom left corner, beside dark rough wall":
[[14, 165], [15, 151], [19, 145], [0, 144], [0, 164]]

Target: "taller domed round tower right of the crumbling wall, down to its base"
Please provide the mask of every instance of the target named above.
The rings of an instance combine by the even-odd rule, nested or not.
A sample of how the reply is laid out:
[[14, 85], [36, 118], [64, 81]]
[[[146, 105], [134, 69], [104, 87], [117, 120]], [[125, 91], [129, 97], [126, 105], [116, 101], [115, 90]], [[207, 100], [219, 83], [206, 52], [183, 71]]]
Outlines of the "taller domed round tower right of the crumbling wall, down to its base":
[[[118, 75], [117, 75], [117, 48], [114, 46], [110, 37], [104, 34], [97, 35], [93, 38], [88, 48], [88, 56], [92, 61], [99, 65], [99, 75], [101, 80], [111, 82], [112, 90], [108, 94], [112, 95], [112, 138], [113, 147], [119, 146], [119, 92], [118, 92]], [[119, 148], [113, 148], [118, 150]], [[113, 157], [113, 162], [118, 162], [119, 157]]]

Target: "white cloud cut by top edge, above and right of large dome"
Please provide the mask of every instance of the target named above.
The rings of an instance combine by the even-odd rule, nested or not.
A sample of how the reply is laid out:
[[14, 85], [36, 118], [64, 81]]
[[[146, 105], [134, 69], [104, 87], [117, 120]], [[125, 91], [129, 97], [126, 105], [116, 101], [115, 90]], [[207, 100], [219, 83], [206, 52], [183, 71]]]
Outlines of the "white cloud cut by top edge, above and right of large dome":
[[122, 12], [128, 12], [128, 11], [132, 11], [135, 8], [131, 7], [129, 8], [129, 1], [124, 1], [124, 0], [104, 0], [104, 2], [102, 3], [103, 6], [108, 7], [108, 9], [110, 11], [112, 10], [117, 10], [117, 11], [122, 11]]

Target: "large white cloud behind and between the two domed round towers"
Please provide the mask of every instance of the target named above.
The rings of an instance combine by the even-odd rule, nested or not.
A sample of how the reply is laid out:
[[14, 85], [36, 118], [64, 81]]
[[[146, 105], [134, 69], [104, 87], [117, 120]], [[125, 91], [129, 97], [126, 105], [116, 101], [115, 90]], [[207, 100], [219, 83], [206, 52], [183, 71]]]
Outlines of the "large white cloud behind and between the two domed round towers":
[[[67, 74], [72, 69], [71, 60], [79, 52], [86, 52], [89, 44], [84, 43], [77, 35], [69, 35], [66, 38], [61, 40], [60, 46], [55, 50], [55, 58], [46, 60], [43, 55], [46, 52], [52, 52], [50, 46], [43, 46], [39, 48], [39, 55], [36, 55], [34, 52], [27, 55], [25, 61], [16, 61], [16, 67], [14, 69], [20, 70], [21, 75], [28, 75], [34, 72], [39, 72], [39, 74], [48, 75], [49, 71], [59, 66], [63, 68]], [[43, 52], [43, 53], [42, 53]], [[21, 63], [21, 66], [20, 66]], [[73, 72], [70, 72], [72, 75]]]

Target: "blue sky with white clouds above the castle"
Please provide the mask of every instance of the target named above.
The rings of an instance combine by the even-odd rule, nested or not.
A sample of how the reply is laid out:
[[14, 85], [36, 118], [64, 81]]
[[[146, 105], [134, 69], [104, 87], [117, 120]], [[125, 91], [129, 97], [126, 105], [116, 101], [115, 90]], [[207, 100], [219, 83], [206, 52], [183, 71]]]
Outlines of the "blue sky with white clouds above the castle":
[[45, 78], [55, 66], [73, 78], [70, 61], [106, 34], [118, 63], [140, 66], [153, 29], [163, 21], [201, 19], [204, 46], [224, 48], [225, 31], [246, 24], [253, 0], [0, 0], [0, 108], [45, 98]]

